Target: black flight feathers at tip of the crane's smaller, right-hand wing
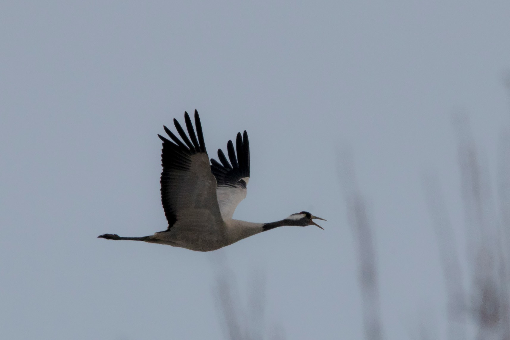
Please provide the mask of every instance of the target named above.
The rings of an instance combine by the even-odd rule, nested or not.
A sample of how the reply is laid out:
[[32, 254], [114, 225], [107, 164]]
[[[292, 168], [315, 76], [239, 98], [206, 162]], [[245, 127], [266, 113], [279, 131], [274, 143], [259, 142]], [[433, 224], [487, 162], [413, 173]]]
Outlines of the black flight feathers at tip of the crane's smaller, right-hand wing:
[[211, 159], [211, 171], [213, 172], [214, 177], [216, 177], [218, 187], [240, 186], [242, 188], [246, 188], [246, 182], [244, 180], [241, 181], [242, 178], [250, 176], [250, 145], [246, 131], [244, 132], [243, 137], [241, 137], [241, 133], [237, 134], [236, 150], [234, 150], [234, 143], [232, 143], [232, 141], [228, 141], [227, 153], [230, 163], [228, 163], [225, 154], [221, 149], [218, 149], [218, 159], [221, 164], [216, 160]]

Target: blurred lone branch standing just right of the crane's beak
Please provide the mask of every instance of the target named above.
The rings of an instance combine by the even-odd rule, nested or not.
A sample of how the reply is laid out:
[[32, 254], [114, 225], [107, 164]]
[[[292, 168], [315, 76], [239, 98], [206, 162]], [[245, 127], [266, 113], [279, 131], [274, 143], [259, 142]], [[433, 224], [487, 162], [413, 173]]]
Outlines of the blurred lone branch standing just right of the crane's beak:
[[347, 204], [349, 224], [354, 234], [354, 241], [358, 246], [365, 338], [367, 340], [380, 340], [382, 339], [382, 327], [377, 265], [367, 204], [356, 185], [354, 165], [349, 152], [338, 152], [338, 168], [340, 183]]

